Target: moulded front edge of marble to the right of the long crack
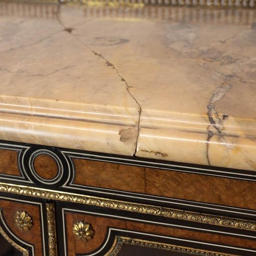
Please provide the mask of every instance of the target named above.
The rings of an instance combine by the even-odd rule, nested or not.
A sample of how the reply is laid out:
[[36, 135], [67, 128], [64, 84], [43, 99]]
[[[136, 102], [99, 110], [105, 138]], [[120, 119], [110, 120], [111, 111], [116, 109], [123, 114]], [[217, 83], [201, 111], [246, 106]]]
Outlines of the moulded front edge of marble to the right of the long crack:
[[[170, 114], [169, 114], [170, 115]], [[184, 118], [185, 117], [185, 118]], [[230, 117], [221, 134], [207, 115], [142, 111], [137, 157], [256, 170], [255, 120]]]

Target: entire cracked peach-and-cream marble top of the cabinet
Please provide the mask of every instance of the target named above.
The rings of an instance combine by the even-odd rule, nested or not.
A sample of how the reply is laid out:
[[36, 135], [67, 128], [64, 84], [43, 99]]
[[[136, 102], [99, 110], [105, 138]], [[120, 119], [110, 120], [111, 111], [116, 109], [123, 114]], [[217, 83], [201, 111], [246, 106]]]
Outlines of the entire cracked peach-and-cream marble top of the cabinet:
[[0, 3], [0, 139], [256, 170], [256, 11]]

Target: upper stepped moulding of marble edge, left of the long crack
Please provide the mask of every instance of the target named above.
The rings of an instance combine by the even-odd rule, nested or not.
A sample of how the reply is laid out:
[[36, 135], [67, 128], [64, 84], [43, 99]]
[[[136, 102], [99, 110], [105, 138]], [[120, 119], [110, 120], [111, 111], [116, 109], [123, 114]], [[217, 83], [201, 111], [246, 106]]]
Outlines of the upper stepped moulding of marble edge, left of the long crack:
[[0, 112], [135, 126], [139, 109], [67, 100], [0, 95]]

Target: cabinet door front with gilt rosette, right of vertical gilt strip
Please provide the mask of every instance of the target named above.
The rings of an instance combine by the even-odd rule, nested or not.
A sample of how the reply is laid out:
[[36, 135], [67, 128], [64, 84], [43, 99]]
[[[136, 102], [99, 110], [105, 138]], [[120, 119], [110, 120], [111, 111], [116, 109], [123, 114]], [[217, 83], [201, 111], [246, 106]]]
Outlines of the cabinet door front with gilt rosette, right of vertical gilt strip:
[[[188, 230], [175, 225], [118, 217], [96, 208], [71, 209], [58, 206], [61, 255], [251, 255], [253, 240], [214, 234], [206, 230]], [[92, 230], [89, 231], [89, 230]], [[88, 233], [87, 233], [88, 232]], [[89, 236], [89, 239], [82, 237]], [[143, 247], [143, 248], [141, 248]], [[246, 247], [250, 247], [247, 250]], [[202, 254], [204, 253], [204, 254]], [[210, 253], [210, 254], [207, 254]]]

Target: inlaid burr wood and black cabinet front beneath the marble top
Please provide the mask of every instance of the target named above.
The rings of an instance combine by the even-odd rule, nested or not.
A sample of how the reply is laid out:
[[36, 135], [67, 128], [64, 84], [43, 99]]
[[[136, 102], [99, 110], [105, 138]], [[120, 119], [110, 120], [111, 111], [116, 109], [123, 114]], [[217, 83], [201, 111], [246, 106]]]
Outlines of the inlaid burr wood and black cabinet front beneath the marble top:
[[256, 252], [250, 172], [8, 141], [0, 147], [0, 231], [24, 255]]

